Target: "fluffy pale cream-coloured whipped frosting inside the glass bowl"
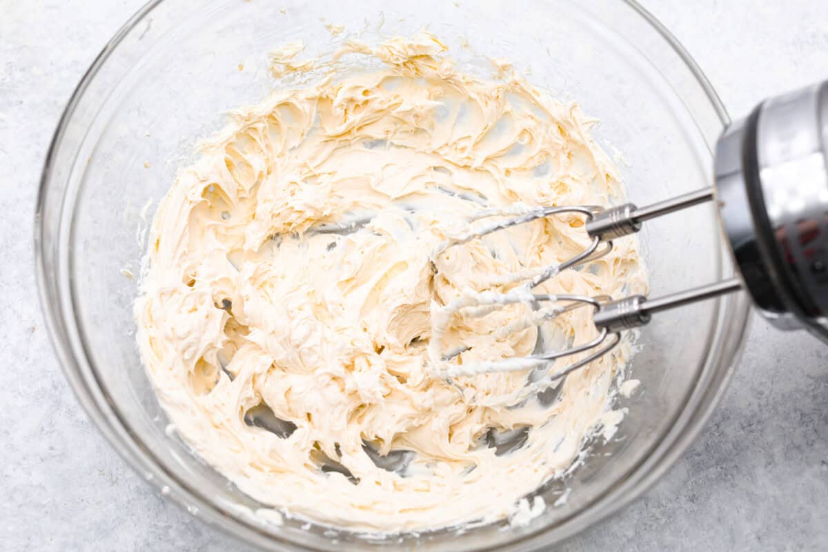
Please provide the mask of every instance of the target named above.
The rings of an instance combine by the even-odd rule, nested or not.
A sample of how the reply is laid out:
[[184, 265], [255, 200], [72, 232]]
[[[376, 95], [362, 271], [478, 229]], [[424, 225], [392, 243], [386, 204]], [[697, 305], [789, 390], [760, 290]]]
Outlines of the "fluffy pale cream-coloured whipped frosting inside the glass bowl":
[[[430, 366], [460, 346], [455, 364], [532, 353], [538, 329], [518, 322], [526, 304], [448, 319], [445, 305], [508, 293], [510, 275], [571, 257], [589, 243], [583, 218], [432, 253], [481, 209], [622, 196], [590, 135], [596, 121], [508, 65], [498, 79], [460, 71], [426, 32], [345, 42], [326, 60], [299, 60], [301, 50], [273, 53], [272, 74], [328, 74], [233, 111], [156, 211], [136, 318], [161, 404], [197, 454], [293, 515], [369, 531], [528, 523], [543, 501], [521, 499], [623, 416], [609, 390], [628, 346], [572, 373], [551, 405], [527, 392], [525, 369], [448, 380]], [[383, 66], [354, 70], [354, 55]], [[624, 238], [535, 291], [642, 292], [638, 261]], [[561, 346], [595, 337], [589, 309], [542, 332]], [[250, 424], [267, 409], [284, 420], [273, 431]], [[492, 428], [530, 429], [498, 456]], [[388, 454], [405, 467], [383, 469]]]

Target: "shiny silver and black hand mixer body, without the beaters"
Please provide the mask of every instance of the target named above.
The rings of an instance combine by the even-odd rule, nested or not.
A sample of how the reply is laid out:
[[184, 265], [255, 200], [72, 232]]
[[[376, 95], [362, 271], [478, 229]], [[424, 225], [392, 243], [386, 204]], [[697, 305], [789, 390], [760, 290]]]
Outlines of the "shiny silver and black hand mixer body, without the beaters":
[[716, 147], [715, 187], [759, 312], [828, 341], [828, 81], [731, 124]]

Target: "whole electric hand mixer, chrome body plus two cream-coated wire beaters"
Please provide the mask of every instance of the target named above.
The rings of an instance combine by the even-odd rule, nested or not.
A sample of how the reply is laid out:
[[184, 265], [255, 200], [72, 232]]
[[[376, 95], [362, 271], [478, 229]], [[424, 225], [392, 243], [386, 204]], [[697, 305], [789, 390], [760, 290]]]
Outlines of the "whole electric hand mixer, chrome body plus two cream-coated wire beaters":
[[[532, 288], [559, 272], [605, 255], [612, 240], [638, 232], [642, 224], [696, 204], [715, 200], [739, 276], [691, 290], [650, 299], [632, 295], [619, 300], [581, 295], [534, 294]], [[589, 343], [552, 353], [493, 362], [448, 364], [464, 352], [442, 355], [446, 376], [472, 375], [537, 367], [557, 358], [585, 356], [547, 376], [554, 381], [609, 353], [621, 332], [647, 324], [652, 314], [746, 290], [759, 312], [779, 329], [806, 329], [828, 342], [828, 80], [758, 105], [749, 117], [729, 125], [715, 148], [715, 185], [639, 209], [623, 204], [488, 210], [475, 219], [513, 215], [446, 243], [441, 250], [537, 218], [580, 214], [590, 247], [565, 262], [528, 275], [514, 290], [487, 292], [450, 309], [490, 312], [498, 305], [531, 302], [529, 324], [583, 306], [594, 309], [598, 336]], [[517, 280], [522, 280], [519, 276]], [[555, 308], [538, 305], [554, 302]]]

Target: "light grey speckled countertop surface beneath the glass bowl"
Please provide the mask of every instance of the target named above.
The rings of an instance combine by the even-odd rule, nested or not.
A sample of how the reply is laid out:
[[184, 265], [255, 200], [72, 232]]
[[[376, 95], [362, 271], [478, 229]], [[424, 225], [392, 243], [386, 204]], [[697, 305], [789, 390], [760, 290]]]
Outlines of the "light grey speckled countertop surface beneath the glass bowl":
[[[36, 306], [32, 214], [80, 76], [142, 0], [0, 2], [0, 549], [238, 550], [126, 467], [80, 409]], [[647, 0], [732, 115], [828, 77], [826, 0]], [[681, 462], [564, 550], [825, 550], [828, 348], [761, 320]]]

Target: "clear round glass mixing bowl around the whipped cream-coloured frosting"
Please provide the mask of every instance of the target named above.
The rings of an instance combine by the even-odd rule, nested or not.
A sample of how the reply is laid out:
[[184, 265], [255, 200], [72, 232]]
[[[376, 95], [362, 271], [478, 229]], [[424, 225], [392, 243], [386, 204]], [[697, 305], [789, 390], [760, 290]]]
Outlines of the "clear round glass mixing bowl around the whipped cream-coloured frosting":
[[[36, 212], [40, 296], [55, 350], [79, 401], [118, 452], [195, 516], [267, 550], [533, 550], [560, 542], [633, 500], [699, 432], [724, 390], [749, 314], [743, 294], [659, 314], [641, 330], [633, 377], [642, 382], [609, 443], [565, 482], [540, 492], [548, 507], [522, 528], [504, 522], [368, 540], [286, 520], [277, 526], [196, 458], [156, 401], [137, 355], [132, 300], [145, 252], [140, 233], [176, 167], [222, 124], [220, 113], [267, 94], [267, 52], [302, 40], [310, 54], [344, 36], [411, 34], [428, 26], [464, 70], [482, 56], [513, 60], [536, 85], [576, 98], [600, 118], [595, 137], [619, 151], [639, 204], [710, 185], [711, 149], [727, 122], [721, 103], [675, 39], [641, 7], [619, 0], [385, 2], [166, 0], [118, 31], [72, 96], [43, 170]], [[479, 55], [460, 47], [468, 39]], [[241, 65], [240, 65], [241, 64]], [[617, 148], [617, 149], [616, 149]], [[150, 201], [151, 203], [147, 203]], [[147, 207], [147, 205], [149, 205]], [[667, 293], [732, 272], [711, 205], [647, 223], [651, 289]], [[126, 276], [125, 276], [126, 275]], [[507, 530], [504, 530], [507, 527]]]

